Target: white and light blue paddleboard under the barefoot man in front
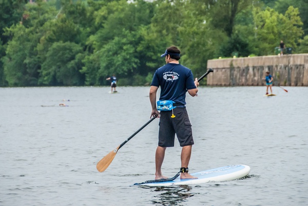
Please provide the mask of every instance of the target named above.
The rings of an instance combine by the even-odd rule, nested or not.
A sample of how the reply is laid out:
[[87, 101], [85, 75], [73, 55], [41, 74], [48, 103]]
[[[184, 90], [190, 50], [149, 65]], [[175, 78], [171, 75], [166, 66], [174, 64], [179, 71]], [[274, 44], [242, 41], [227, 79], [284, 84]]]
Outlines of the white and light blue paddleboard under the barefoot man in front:
[[[139, 186], [173, 186], [173, 185], [187, 185], [187, 184], [201, 184], [209, 181], [221, 182], [236, 180], [245, 177], [249, 174], [250, 167], [246, 165], [231, 165], [221, 168], [215, 168], [211, 170], [204, 170], [201, 172], [191, 173], [192, 176], [198, 177], [198, 179], [180, 179], [176, 178], [172, 181], [162, 181], [162, 182], [150, 182], [147, 181], [142, 183], [136, 183]], [[152, 181], [152, 180], [149, 180]]]

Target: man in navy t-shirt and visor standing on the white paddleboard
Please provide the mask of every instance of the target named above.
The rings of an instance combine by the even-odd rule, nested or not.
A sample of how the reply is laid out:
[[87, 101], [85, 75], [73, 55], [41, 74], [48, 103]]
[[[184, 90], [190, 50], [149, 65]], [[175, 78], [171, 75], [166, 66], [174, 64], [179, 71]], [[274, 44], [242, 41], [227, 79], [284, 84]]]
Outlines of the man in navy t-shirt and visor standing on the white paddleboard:
[[[191, 96], [196, 96], [198, 92], [198, 79], [190, 69], [179, 64], [181, 51], [175, 47], [168, 47], [161, 57], [165, 57], [166, 65], [156, 70], [153, 75], [149, 98], [152, 107], [151, 117], [158, 115], [159, 136], [158, 147], [156, 149], [156, 172], [155, 179], [166, 179], [162, 175], [161, 167], [163, 164], [167, 147], [174, 147], [175, 134], [182, 147], [181, 152], [181, 179], [195, 179], [188, 173], [188, 163], [191, 155], [191, 148], [194, 145], [192, 138], [191, 124], [186, 111], [186, 92]], [[159, 100], [174, 101], [172, 111], [159, 112], [156, 105], [156, 94], [161, 87]]]

